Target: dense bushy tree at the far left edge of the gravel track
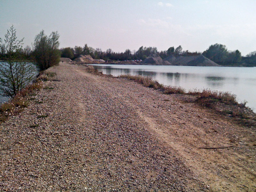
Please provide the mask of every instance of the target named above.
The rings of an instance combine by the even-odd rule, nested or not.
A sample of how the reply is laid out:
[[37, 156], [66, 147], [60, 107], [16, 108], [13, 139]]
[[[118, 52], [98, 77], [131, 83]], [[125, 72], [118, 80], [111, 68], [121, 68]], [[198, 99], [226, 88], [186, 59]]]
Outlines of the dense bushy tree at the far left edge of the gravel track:
[[52, 32], [50, 36], [44, 34], [42, 30], [35, 37], [34, 41], [34, 56], [38, 67], [45, 70], [60, 62], [58, 31]]

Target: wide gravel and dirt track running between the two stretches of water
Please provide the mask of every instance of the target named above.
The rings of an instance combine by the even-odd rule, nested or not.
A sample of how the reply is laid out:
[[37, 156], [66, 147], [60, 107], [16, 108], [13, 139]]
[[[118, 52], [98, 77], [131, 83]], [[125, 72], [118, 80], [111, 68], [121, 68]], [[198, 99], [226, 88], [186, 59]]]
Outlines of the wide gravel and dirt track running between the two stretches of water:
[[0, 125], [0, 191], [255, 191], [255, 128], [192, 96], [48, 70], [55, 81]]

